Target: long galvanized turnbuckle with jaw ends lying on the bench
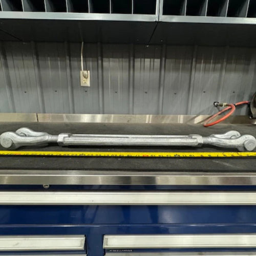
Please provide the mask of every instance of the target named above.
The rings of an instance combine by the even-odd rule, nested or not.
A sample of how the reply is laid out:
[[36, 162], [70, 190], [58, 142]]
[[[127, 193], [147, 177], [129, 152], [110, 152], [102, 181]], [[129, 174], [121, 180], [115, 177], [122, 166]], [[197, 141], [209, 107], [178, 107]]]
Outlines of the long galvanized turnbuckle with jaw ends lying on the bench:
[[224, 134], [212, 134], [203, 137], [190, 135], [96, 135], [61, 133], [51, 135], [34, 132], [29, 128], [20, 128], [16, 132], [5, 132], [0, 136], [4, 148], [13, 150], [22, 146], [42, 146], [58, 143], [60, 146], [192, 146], [211, 145], [224, 148], [237, 148], [239, 151], [253, 151], [256, 139], [252, 135], [242, 135], [237, 131]]

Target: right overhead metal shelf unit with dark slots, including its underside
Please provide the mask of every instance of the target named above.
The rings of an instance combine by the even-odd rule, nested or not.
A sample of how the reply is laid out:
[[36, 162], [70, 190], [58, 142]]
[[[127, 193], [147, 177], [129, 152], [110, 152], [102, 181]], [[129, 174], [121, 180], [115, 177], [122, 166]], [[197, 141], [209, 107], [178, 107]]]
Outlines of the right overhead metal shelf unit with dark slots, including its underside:
[[256, 44], [256, 0], [162, 0], [151, 44]]

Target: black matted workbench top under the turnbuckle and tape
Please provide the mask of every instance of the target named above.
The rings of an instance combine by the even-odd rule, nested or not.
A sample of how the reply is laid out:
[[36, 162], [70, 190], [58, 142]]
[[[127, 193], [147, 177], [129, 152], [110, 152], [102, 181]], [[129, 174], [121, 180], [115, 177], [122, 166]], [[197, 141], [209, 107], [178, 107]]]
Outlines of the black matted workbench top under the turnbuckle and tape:
[[[47, 123], [3, 122], [0, 133], [29, 127], [34, 131], [82, 134], [152, 134], [208, 136], [236, 130], [256, 137], [256, 127], [251, 124], [219, 124], [205, 128], [202, 124], [134, 124], [134, 123]], [[0, 148], [4, 150], [3, 148]], [[225, 152], [225, 149], [204, 146], [194, 147], [23, 147], [19, 151], [151, 151], [151, 152]], [[236, 150], [228, 150], [236, 151]], [[254, 172], [256, 158], [108, 158], [108, 157], [42, 157], [1, 156], [1, 169], [76, 169], [76, 170], [141, 170], [141, 171], [186, 171], [186, 172]]]

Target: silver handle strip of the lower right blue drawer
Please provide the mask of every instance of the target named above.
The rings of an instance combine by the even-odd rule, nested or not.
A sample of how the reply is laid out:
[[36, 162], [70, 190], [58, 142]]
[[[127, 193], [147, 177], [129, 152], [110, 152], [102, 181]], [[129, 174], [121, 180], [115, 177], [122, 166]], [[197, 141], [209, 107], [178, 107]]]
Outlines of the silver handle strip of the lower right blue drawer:
[[256, 234], [105, 235], [104, 249], [253, 248]]

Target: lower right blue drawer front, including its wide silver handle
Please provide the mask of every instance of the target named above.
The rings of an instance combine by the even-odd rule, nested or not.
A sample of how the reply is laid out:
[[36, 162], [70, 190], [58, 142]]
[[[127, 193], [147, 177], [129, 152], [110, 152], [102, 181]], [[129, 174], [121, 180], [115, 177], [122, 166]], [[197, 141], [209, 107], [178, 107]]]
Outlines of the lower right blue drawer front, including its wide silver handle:
[[103, 240], [106, 256], [254, 255], [255, 247], [256, 233], [123, 234], [105, 235]]

